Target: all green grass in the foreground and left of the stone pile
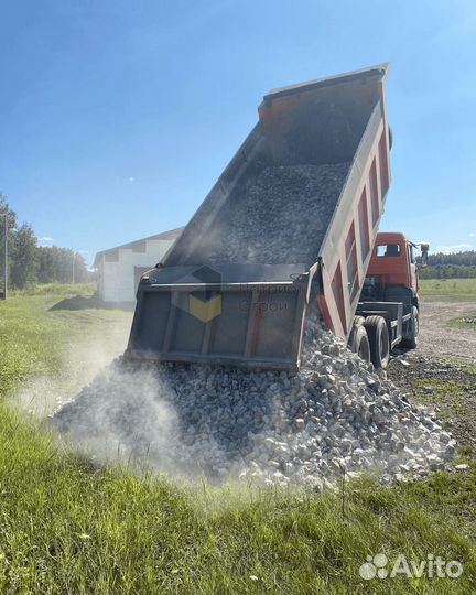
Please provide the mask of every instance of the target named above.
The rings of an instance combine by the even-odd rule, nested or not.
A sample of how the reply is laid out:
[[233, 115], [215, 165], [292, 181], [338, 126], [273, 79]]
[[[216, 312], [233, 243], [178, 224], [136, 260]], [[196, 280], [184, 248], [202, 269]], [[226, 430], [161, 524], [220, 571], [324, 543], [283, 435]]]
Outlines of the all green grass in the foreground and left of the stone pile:
[[[73, 345], [119, 349], [130, 313], [50, 310], [75, 292], [0, 303], [3, 398], [34, 375], [62, 376]], [[0, 593], [467, 594], [476, 585], [473, 462], [411, 485], [364, 478], [322, 495], [177, 486], [144, 470], [95, 469], [6, 404], [0, 447]], [[434, 554], [464, 572], [367, 582], [359, 566], [378, 553], [391, 563]]]

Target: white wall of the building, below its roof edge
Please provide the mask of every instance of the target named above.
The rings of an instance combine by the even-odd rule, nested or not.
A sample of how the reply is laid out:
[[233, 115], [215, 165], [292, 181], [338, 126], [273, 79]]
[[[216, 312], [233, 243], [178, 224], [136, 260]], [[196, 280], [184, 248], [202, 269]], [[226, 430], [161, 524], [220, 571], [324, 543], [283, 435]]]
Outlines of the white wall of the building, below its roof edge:
[[[136, 267], [152, 269], [165, 255], [174, 240], [144, 240], [145, 251], [134, 251], [132, 248], [119, 248], [118, 261], [110, 262], [102, 255], [100, 262], [100, 298], [105, 302], [136, 301]], [[139, 244], [137, 245], [139, 246]]]

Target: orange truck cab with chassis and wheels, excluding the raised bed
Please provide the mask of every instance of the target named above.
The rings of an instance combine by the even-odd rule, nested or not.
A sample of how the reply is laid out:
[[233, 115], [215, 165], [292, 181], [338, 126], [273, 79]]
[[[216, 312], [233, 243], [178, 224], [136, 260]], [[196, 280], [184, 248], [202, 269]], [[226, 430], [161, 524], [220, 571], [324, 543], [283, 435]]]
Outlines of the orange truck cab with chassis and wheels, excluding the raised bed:
[[364, 358], [369, 356], [377, 367], [386, 367], [393, 347], [418, 345], [420, 299], [415, 248], [421, 249], [424, 267], [428, 244], [413, 244], [401, 232], [377, 235], [349, 336], [349, 346]]

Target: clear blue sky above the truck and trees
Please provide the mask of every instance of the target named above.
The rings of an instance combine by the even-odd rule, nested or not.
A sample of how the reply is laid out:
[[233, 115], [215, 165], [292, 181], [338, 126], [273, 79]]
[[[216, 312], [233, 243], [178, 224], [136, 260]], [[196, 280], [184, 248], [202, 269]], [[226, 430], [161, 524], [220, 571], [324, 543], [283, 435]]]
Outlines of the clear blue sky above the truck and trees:
[[0, 3], [0, 192], [43, 244], [184, 225], [273, 87], [390, 61], [382, 228], [476, 246], [473, 1]]

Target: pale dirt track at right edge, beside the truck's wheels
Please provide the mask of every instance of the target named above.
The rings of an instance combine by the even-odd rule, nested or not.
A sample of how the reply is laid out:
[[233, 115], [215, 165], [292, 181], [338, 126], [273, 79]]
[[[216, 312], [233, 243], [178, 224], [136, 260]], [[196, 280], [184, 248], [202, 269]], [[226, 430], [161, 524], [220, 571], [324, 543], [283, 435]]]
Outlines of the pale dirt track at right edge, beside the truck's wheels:
[[476, 332], [448, 326], [452, 318], [476, 313], [475, 302], [424, 302], [420, 310], [421, 355], [476, 360]]

